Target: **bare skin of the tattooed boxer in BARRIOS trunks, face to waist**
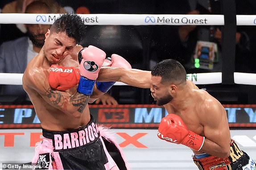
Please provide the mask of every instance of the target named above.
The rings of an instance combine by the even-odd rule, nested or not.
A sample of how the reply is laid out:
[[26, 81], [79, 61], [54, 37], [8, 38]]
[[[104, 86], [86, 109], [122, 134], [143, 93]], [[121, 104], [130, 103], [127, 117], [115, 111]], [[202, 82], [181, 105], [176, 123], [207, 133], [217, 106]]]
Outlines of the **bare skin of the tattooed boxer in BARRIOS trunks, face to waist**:
[[[28, 64], [23, 76], [23, 88], [28, 93], [34, 109], [46, 130], [71, 130], [85, 126], [90, 121], [88, 101], [90, 95], [77, 92], [77, 86], [67, 91], [56, 91], [49, 85], [49, 71], [52, 64], [64, 67], [78, 67], [78, 52], [74, 39], [65, 32], [45, 34], [45, 44], [39, 54]], [[95, 91], [92, 98], [103, 93]]]

